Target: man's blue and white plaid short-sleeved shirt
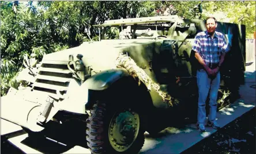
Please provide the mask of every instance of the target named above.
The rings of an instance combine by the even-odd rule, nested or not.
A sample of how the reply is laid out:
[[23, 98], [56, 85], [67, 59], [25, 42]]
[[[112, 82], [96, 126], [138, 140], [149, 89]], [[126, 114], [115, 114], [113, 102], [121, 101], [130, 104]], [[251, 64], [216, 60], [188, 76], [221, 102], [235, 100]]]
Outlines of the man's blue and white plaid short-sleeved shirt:
[[219, 63], [221, 53], [228, 52], [228, 45], [224, 39], [224, 35], [220, 32], [214, 33], [213, 39], [207, 31], [200, 32], [195, 36], [193, 51], [198, 52], [205, 64]]

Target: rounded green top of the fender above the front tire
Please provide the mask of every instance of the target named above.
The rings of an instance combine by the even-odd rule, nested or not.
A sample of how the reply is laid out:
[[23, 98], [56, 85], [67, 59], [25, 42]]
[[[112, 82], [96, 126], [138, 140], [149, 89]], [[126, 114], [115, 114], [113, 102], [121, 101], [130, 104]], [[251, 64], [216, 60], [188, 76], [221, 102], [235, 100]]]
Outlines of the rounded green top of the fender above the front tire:
[[106, 70], [93, 75], [84, 84], [89, 90], [106, 90], [111, 84], [125, 76], [130, 75], [126, 70], [121, 68]]

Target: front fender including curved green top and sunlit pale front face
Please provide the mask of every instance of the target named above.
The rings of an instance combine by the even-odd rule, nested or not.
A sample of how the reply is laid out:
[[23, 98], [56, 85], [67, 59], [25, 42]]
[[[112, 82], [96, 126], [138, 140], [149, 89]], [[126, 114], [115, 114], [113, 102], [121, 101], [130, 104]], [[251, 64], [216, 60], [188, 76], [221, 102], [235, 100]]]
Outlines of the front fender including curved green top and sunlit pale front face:
[[[107, 90], [111, 84], [125, 76], [130, 75], [123, 69], [101, 71], [85, 80], [81, 86], [72, 87], [72, 89], [77, 90], [71, 91], [69, 93], [70, 97], [66, 98], [59, 107], [72, 113], [86, 114], [86, 110], [91, 109], [90, 107], [92, 107], [95, 98], [101, 97], [102, 91]], [[73, 102], [72, 105], [70, 105], [70, 102]]]

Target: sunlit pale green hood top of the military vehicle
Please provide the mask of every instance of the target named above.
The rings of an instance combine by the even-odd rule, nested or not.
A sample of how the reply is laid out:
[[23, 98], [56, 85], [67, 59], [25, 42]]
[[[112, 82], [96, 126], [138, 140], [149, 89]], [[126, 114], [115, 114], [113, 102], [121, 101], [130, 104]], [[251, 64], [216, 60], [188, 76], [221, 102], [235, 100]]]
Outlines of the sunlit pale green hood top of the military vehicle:
[[44, 55], [42, 63], [67, 64], [70, 55], [73, 55], [76, 61], [76, 56], [81, 54], [85, 66], [92, 67], [96, 73], [102, 70], [116, 68], [116, 59], [118, 59], [121, 53], [126, 53], [127, 51], [140, 52], [140, 48], [154, 42], [156, 40], [152, 39], [84, 42], [76, 48]]

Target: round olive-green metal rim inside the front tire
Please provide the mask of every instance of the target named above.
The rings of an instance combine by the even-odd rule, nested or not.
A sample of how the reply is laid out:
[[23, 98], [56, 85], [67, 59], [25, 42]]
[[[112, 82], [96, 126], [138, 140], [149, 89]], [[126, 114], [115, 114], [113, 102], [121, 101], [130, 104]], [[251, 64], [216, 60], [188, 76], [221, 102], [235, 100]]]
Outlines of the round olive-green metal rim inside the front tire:
[[115, 151], [123, 152], [131, 147], [138, 136], [140, 117], [131, 109], [116, 112], [111, 118], [108, 139]]

